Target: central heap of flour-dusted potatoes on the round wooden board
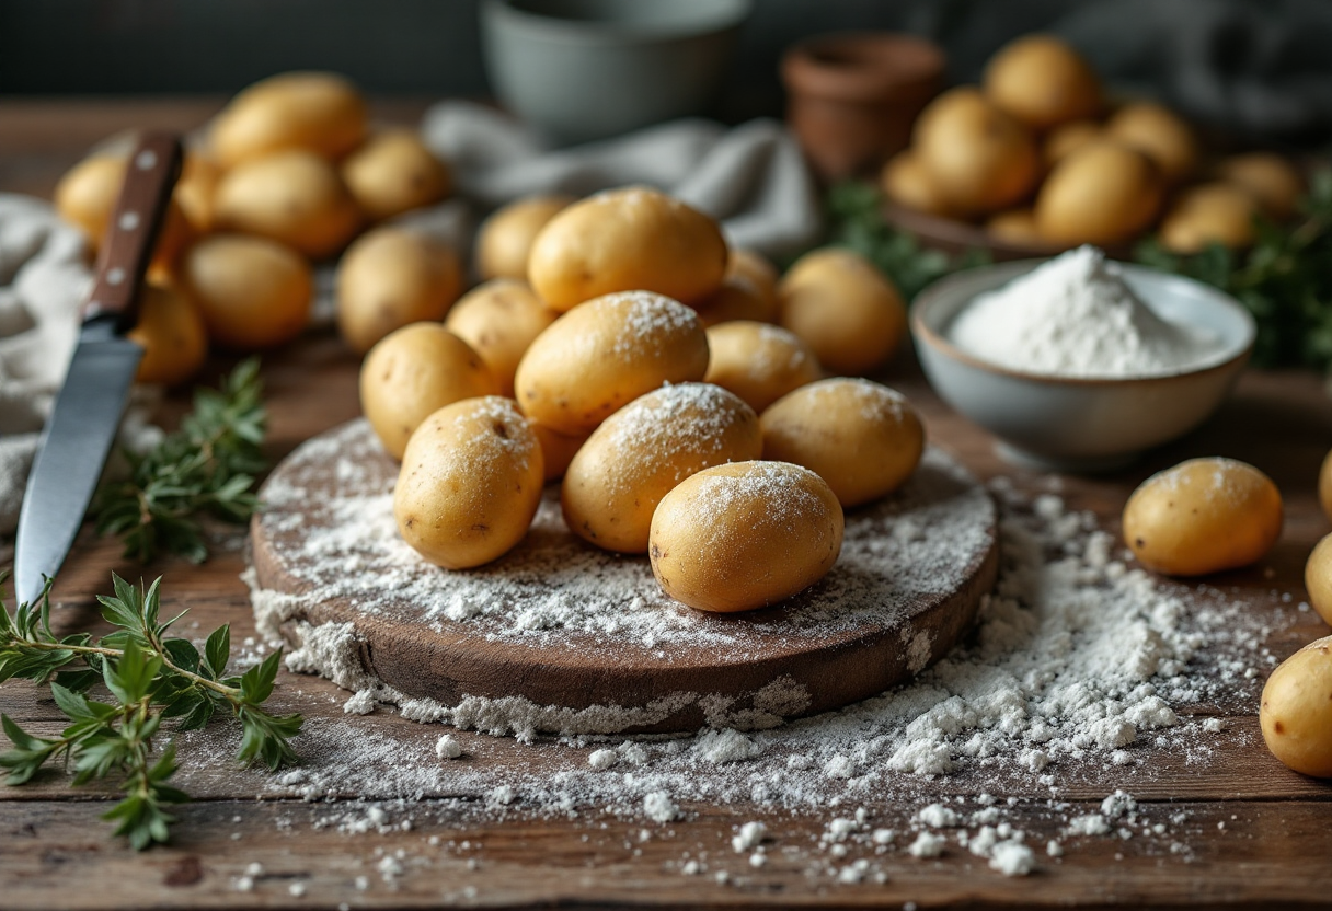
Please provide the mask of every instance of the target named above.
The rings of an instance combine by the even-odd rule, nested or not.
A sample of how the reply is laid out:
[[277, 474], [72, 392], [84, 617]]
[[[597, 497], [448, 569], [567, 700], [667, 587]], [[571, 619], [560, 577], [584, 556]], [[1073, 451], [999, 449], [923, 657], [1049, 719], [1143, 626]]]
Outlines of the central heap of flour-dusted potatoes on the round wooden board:
[[[761, 607], [822, 578], [842, 510], [920, 458], [898, 393], [823, 378], [880, 366], [904, 333], [896, 289], [855, 253], [815, 250], [779, 280], [713, 218], [630, 186], [514, 202], [477, 258], [488, 281], [361, 369], [365, 416], [402, 461], [398, 530], [440, 566], [507, 553], [559, 479], [570, 533], [647, 554], [691, 607]], [[365, 322], [354, 310], [344, 328]]]

